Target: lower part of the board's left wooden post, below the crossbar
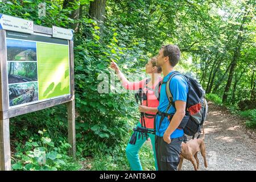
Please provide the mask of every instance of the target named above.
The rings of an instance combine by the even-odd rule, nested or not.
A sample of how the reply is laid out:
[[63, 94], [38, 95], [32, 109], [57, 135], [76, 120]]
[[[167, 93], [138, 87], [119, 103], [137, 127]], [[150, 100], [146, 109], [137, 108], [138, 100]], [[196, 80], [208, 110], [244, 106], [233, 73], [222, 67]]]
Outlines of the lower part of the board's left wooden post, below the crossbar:
[[9, 119], [0, 120], [0, 171], [11, 171]]

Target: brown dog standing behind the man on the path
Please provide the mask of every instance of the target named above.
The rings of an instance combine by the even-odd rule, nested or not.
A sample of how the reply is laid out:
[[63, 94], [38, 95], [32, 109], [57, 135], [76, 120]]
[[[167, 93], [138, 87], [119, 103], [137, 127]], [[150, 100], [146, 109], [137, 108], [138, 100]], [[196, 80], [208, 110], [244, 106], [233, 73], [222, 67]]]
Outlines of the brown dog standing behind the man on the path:
[[[201, 152], [203, 158], [204, 158], [204, 166], [207, 168], [207, 160], [206, 160], [206, 153], [205, 153], [205, 144], [204, 144], [204, 128], [203, 128], [203, 137], [199, 139], [191, 139], [187, 143], [182, 143], [182, 149], [180, 153], [180, 163], [179, 163], [179, 168], [178, 170], [180, 171], [183, 159], [187, 159], [190, 162], [192, 162], [195, 171], [199, 169], [199, 160], [197, 158], [197, 152]], [[195, 159], [196, 163], [195, 163]]]

